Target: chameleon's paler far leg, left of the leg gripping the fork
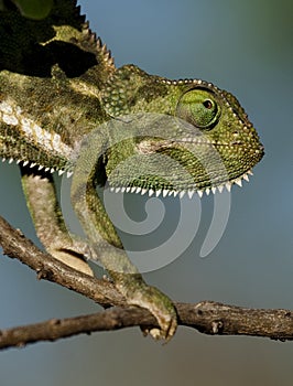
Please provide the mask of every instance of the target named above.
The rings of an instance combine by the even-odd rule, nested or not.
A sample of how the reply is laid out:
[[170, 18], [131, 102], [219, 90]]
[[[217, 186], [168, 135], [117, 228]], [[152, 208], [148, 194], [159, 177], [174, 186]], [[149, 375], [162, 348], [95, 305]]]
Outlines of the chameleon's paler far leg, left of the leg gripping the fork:
[[26, 204], [46, 251], [72, 268], [94, 276], [84, 259], [88, 245], [70, 236], [66, 229], [52, 175], [35, 175], [25, 168], [21, 171]]

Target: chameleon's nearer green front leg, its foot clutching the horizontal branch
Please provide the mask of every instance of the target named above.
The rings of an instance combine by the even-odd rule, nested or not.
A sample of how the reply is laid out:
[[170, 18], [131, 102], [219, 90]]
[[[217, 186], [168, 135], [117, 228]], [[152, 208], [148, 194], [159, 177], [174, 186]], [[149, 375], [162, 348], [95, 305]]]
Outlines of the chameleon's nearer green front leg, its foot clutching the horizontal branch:
[[[172, 301], [155, 287], [148, 286], [130, 261], [122, 243], [98, 197], [95, 174], [98, 170], [95, 151], [101, 136], [91, 138], [91, 149], [82, 150], [73, 174], [72, 203], [99, 261], [108, 270], [117, 289], [129, 304], [148, 309], [158, 320], [160, 331], [150, 331], [153, 337], [171, 339], [177, 326]], [[97, 139], [97, 140], [96, 140]], [[149, 332], [149, 331], [148, 331]]]

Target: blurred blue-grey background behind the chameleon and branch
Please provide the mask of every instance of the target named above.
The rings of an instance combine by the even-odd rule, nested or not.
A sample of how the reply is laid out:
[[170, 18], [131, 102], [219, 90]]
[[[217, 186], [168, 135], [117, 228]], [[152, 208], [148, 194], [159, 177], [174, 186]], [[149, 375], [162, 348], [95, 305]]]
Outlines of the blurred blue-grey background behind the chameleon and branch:
[[[151, 74], [203, 78], [231, 92], [265, 147], [251, 182], [234, 187], [229, 222], [211, 254], [199, 257], [213, 214], [213, 197], [204, 197], [194, 242], [172, 264], [146, 274], [145, 280], [178, 301], [293, 309], [293, 2], [80, 0], [80, 4], [117, 66], [134, 63]], [[0, 173], [1, 215], [37, 244], [17, 165], [0, 163]], [[184, 200], [189, 227], [195, 204]], [[131, 214], [145, 200], [129, 195], [127, 202]], [[178, 201], [163, 203], [167, 227], [177, 218]], [[148, 243], [158, 244], [159, 236], [152, 237]], [[29, 268], [2, 255], [0, 304], [1, 329], [97, 310], [76, 293], [37, 281]], [[1, 352], [0, 384], [291, 385], [292, 363], [290, 342], [207, 336], [180, 328], [172, 342], [162, 345], [132, 329]]]

